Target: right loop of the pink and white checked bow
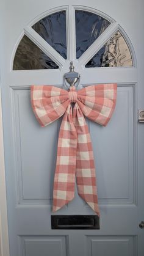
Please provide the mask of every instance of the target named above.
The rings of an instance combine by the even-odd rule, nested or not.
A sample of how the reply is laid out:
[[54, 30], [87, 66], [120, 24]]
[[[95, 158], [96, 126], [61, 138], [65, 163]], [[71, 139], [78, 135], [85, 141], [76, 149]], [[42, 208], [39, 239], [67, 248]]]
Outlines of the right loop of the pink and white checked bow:
[[117, 98], [117, 84], [98, 84], [87, 86], [77, 92], [82, 113], [93, 122], [106, 126]]

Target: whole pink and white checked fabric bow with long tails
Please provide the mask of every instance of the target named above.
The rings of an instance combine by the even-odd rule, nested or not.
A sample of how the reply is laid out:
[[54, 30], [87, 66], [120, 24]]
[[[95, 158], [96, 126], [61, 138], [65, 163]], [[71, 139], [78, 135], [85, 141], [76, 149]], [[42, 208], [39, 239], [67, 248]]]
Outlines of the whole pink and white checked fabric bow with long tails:
[[[31, 103], [41, 126], [63, 114], [57, 145], [53, 212], [74, 198], [75, 177], [79, 196], [99, 216], [92, 142], [84, 115], [106, 126], [117, 97], [117, 84], [98, 84], [76, 91], [54, 86], [31, 86]], [[72, 108], [71, 103], [75, 103]]]

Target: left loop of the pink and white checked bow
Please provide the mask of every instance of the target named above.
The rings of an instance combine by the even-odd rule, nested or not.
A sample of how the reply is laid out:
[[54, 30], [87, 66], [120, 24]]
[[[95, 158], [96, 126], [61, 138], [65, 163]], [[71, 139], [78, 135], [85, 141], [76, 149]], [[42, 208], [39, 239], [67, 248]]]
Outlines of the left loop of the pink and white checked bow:
[[69, 104], [68, 92], [55, 86], [31, 86], [31, 104], [43, 127], [65, 113]]

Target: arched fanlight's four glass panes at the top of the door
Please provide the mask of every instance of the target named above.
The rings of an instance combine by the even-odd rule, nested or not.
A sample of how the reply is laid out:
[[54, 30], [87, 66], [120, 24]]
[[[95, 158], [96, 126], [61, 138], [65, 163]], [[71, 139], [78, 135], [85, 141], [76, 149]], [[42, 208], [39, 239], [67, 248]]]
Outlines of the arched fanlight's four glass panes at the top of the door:
[[[67, 10], [51, 13], [32, 25], [32, 29], [60, 56], [68, 59]], [[75, 10], [76, 59], [87, 51], [104, 31], [109, 31], [110, 21], [103, 16], [87, 11]], [[29, 36], [29, 35], [28, 35]], [[58, 69], [59, 65], [24, 35], [13, 60], [13, 70]], [[106, 41], [105, 41], [106, 42]], [[85, 68], [131, 67], [132, 54], [121, 31], [117, 30], [85, 64]]]

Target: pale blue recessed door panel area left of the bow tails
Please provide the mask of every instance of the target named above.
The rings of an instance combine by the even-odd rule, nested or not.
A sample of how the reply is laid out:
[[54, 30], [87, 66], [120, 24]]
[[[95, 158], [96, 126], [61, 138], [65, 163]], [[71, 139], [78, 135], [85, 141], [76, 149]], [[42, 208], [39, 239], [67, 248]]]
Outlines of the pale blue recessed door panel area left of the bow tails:
[[[30, 90], [12, 90], [15, 118], [15, 152], [20, 204], [46, 204], [52, 199], [52, 180], [56, 166], [59, 120], [41, 129], [31, 108]], [[18, 136], [19, 134], [19, 136]], [[29, 134], [29, 136], [27, 136]], [[51, 148], [51, 152], [49, 152]], [[40, 170], [40, 171], [39, 171]], [[49, 189], [50, 188], [50, 189]]]

